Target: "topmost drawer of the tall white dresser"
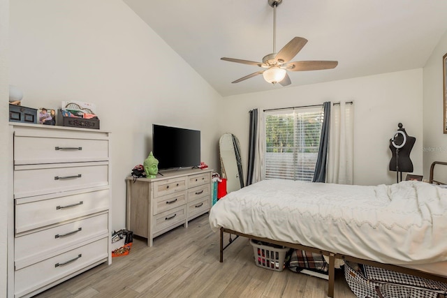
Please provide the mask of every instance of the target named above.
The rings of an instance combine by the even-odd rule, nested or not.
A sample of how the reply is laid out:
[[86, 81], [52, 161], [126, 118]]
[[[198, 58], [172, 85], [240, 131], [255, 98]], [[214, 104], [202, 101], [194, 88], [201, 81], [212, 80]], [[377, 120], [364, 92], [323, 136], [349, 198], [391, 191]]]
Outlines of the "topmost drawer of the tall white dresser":
[[15, 164], [108, 161], [108, 140], [15, 137]]

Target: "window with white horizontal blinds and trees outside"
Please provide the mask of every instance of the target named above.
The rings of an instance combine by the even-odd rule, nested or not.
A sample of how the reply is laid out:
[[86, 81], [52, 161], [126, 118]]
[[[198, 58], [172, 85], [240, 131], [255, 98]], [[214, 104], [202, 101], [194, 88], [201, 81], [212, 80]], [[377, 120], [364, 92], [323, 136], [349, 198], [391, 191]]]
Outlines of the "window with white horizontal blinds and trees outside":
[[266, 111], [264, 116], [265, 179], [312, 181], [323, 108]]

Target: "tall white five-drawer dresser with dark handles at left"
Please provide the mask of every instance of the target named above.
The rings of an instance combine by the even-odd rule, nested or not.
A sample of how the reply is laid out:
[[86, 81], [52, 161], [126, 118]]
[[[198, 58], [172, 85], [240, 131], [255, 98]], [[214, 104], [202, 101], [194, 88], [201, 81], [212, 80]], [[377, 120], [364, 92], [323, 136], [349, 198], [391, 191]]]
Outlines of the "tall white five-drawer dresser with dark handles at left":
[[8, 297], [31, 297], [110, 254], [110, 134], [11, 124]]

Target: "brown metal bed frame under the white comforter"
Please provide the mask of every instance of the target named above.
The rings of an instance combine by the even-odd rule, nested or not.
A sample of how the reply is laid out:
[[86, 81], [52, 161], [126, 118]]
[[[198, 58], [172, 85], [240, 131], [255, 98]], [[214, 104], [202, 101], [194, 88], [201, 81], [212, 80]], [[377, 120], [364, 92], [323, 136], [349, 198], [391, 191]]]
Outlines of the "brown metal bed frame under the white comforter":
[[[440, 181], [436, 181], [433, 179], [433, 174], [434, 174], [434, 166], [435, 165], [447, 165], [447, 163], [445, 162], [441, 162], [441, 161], [435, 161], [434, 163], [432, 163], [431, 167], [430, 167], [430, 183], [431, 184], [444, 184]], [[223, 246], [223, 233], [229, 233], [230, 234], [230, 241], [226, 246]], [[385, 263], [381, 263], [381, 262], [376, 262], [376, 261], [371, 261], [371, 260], [365, 260], [365, 259], [360, 259], [360, 258], [356, 258], [353, 257], [351, 255], [343, 255], [340, 253], [332, 253], [330, 251], [323, 251], [319, 248], [315, 248], [315, 247], [311, 247], [311, 246], [304, 246], [301, 244], [295, 244], [295, 243], [290, 243], [290, 242], [285, 242], [285, 241], [277, 241], [277, 240], [273, 240], [273, 239], [267, 239], [267, 238], [263, 238], [263, 237], [256, 237], [250, 234], [244, 234], [241, 232], [237, 232], [234, 230], [230, 230], [227, 228], [220, 228], [220, 259], [219, 262], [223, 262], [223, 250], [225, 248], [228, 247], [228, 245], [230, 245], [231, 243], [233, 243], [233, 241], [235, 239], [231, 239], [231, 234], [235, 234], [236, 237], [235, 239], [237, 239], [239, 236], [242, 237], [247, 237], [250, 239], [256, 239], [259, 241], [266, 241], [269, 242], [271, 244], [277, 244], [280, 246], [286, 246], [286, 247], [290, 247], [290, 248], [295, 248], [295, 249], [300, 249], [302, 251], [309, 251], [311, 253], [318, 253], [321, 255], [326, 255], [329, 258], [329, 270], [328, 270], [328, 297], [334, 297], [334, 283], [335, 283], [335, 259], [342, 259], [344, 261], [351, 261], [351, 262], [357, 262], [363, 265], [370, 265], [370, 266], [374, 266], [374, 267], [379, 267], [379, 268], [383, 268], [383, 269], [388, 269], [391, 271], [396, 271], [396, 272], [400, 272], [402, 274], [409, 274], [409, 275], [413, 275], [413, 276], [418, 276], [421, 278], [427, 278], [427, 279], [431, 279], [433, 281], [440, 281], [443, 283], [447, 283], [447, 276], [441, 276], [441, 275], [437, 275], [437, 274], [430, 274], [427, 273], [425, 271], [420, 271], [417, 269], [411, 269], [411, 268], [407, 268], [407, 267], [402, 267], [399, 265], [391, 265], [391, 264], [385, 264]]]

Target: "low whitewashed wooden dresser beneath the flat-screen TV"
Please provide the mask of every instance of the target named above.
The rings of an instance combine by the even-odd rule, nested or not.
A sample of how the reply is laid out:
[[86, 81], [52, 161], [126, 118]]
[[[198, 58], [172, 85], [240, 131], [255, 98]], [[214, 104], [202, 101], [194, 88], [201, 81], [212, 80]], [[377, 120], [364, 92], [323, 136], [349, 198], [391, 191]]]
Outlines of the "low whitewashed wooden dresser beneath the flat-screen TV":
[[154, 179], [127, 181], [126, 226], [133, 234], [147, 238], [152, 246], [157, 237], [188, 221], [211, 207], [212, 170], [163, 171]]

